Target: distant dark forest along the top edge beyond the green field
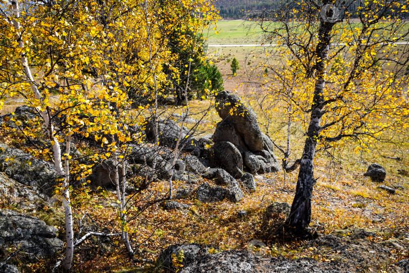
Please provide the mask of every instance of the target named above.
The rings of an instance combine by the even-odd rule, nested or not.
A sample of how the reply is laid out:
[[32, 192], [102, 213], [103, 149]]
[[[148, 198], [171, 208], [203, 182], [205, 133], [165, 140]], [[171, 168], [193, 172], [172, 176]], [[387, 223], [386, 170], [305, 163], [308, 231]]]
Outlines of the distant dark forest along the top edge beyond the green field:
[[[263, 11], [277, 9], [280, 5], [282, 5], [280, 2], [284, 3], [285, 1], [217, 0], [215, 7], [220, 11], [220, 16], [223, 19], [244, 19], [251, 17], [252, 15], [260, 14]], [[359, 5], [360, 2], [356, 1], [349, 7], [352, 17], [355, 17], [354, 15]]]

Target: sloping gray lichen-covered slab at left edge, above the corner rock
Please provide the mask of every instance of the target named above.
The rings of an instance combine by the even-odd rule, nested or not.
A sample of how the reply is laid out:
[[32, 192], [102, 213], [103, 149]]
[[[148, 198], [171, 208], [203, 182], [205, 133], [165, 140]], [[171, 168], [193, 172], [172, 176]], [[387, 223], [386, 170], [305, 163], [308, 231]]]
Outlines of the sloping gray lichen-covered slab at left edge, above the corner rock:
[[47, 195], [52, 194], [53, 187], [57, 184], [58, 175], [53, 164], [36, 159], [19, 149], [9, 148], [3, 143], [0, 143], [0, 171]]

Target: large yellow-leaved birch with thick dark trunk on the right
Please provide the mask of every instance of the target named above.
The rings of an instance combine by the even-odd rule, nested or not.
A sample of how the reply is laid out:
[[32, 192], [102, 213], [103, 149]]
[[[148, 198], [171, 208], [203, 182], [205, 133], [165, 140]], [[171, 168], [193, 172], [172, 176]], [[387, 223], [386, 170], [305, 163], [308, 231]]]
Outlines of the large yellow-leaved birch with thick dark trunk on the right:
[[[407, 101], [400, 97], [407, 86], [407, 1], [359, 4], [355, 1], [282, 2], [260, 16], [265, 43], [277, 43], [274, 57], [286, 60], [265, 63], [276, 71], [267, 84], [273, 99], [283, 99], [277, 81], [297, 70], [297, 88], [287, 103], [305, 127], [295, 197], [286, 224], [303, 231], [311, 221], [314, 158], [317, 150], [356, 141], [359, 149], [373, 142], [391, 142], [390, 130], [407, 127]], [[309, 116], [308, 116], [309, 115]]]

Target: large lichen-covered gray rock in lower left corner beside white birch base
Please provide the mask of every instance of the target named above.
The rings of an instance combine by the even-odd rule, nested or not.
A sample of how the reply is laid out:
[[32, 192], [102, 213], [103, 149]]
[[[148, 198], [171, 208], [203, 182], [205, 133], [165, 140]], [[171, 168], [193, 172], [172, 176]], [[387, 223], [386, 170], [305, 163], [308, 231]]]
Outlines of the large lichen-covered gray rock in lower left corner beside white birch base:
[[51, 258], [63, 249], [57, 232], [57, 228], [40, 219], [0, 209], [0, 247], [20, 246], [31, 261]]

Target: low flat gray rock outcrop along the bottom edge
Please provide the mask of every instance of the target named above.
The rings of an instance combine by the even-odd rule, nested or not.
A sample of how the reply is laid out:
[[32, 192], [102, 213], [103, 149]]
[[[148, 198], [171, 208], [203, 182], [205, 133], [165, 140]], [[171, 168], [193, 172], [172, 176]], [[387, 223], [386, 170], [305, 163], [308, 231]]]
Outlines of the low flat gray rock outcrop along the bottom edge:
[[[198, 244], [172, 245], [165, 249], [157, 259], [157, 267], [165, 272], [180, 273], [346, 273], [354, 268], [340, 262], [317, 262], [312, 258], [286, 259], [262, 258], [254, 256], [251, 251], [212, 251], [210, 247]], [[173, 254], [173, 256], [172, 256]], [[183, 254], [182, 267], [172, 264], [173, 257]]]

